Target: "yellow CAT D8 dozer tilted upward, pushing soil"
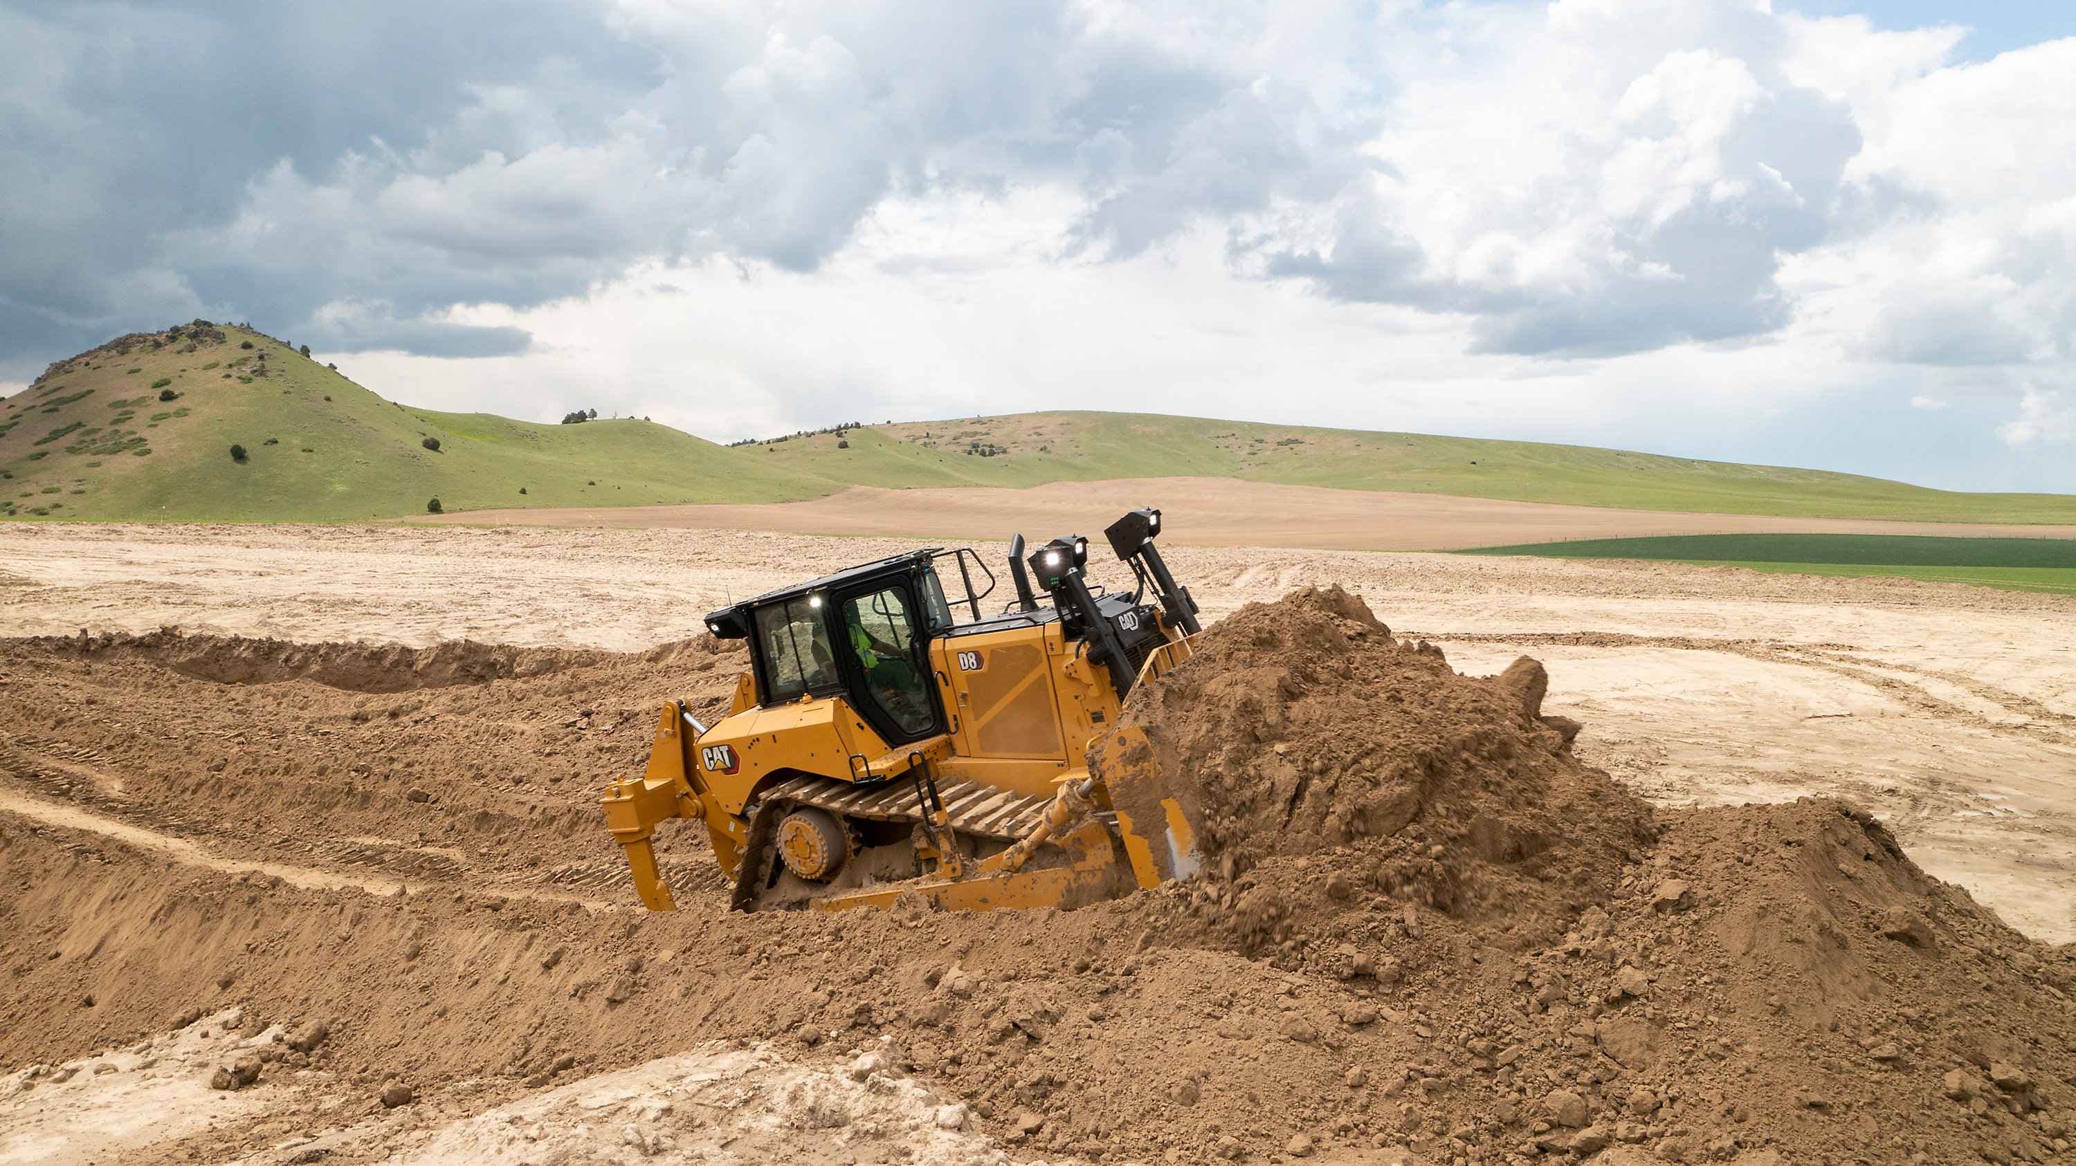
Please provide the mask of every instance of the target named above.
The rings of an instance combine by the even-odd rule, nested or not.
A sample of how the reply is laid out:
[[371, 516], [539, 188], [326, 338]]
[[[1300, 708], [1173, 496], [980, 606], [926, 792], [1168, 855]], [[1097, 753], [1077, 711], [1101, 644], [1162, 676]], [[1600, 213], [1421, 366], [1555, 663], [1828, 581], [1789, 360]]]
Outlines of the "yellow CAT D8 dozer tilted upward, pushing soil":
[[666, 703], [648, 774], [604, 795], [641, 903], [677, 907], [654, 853], [673, 817], [706, 824], [741, 911], [909, 894], [1080, 907], [1194, 873], [1196, 801], [1160, 788], [1144, 739], [1117, 730], [1133, 685], [1181, 664], [1202, 631], [1158, 533], [1160, 510], [1104, 531], [1131, 593], [1088, 581], [1088, 539], [1026, 560], [1017, 535], [1017, 595], [999, 614], [982, 614], [994, 573], [972, 548], [880, 558], [708, 614], [716, 637], [749, 641], [729, 716], [706, 726]]

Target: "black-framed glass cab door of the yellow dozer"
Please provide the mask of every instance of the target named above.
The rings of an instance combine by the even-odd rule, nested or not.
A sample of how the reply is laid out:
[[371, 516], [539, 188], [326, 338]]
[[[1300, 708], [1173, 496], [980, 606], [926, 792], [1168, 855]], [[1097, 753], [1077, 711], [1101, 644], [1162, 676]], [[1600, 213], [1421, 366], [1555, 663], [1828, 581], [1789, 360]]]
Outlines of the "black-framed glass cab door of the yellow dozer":
[[924, 612], [907, 579], [880, 579], [839, 593], [832, 635], [851, 701], [889, 745], [945, 730]]

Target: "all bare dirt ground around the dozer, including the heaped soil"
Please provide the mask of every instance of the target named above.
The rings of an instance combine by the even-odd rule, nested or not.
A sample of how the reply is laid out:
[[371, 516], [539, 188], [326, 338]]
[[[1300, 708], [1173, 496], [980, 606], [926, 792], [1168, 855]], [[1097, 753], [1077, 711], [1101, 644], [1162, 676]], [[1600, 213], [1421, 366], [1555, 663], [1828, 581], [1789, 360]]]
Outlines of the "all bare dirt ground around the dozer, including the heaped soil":
[[700, 616], [899, 548], [0, 531], [0, 1162], [2072, 1160], [2076, 602], [1177, 546], [1210, 878], [635, 911]]

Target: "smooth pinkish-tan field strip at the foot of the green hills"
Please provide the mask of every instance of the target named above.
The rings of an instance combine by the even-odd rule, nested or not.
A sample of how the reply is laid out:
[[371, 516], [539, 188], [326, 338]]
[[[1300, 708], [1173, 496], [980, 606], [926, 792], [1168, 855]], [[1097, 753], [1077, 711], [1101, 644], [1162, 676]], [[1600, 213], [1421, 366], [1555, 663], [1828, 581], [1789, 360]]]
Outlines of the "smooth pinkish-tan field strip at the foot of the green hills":
[[415, 515], [411, 521], [990, 539], [1003, 529], [1048, 531], [1048, 537], [1067, 529], [1096, 535], [1117, 515], [1136, 506], [1160, 506], [1175, 521], [1167, 535], [1173, 546], [1229, 548], [1464, 550], [1557, 539], [1729, 533], [2076, 537], [2076, 527], [1682, 515], [1327, 490], [1229, 477], [1055, 481], [1028, 490], [853, 485], [826, 498], [760, 506], [567, 506], [469, 510], [442, 519]]

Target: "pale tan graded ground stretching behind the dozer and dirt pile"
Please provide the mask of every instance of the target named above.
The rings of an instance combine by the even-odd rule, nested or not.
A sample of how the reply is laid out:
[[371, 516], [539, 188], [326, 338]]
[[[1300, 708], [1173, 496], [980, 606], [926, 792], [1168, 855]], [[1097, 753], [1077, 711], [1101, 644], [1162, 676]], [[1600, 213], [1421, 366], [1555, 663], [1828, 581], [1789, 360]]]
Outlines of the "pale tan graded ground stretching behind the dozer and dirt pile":
[[[698, 635], [731, 600], [907, 546], [683, 529], [8, 527], [0, 631], [637, 651]], [[1001, 562], [1005, 548], [980, 546]], [[1933, 873], [2030, 934], [2076, 940], [2076, 600], [1684, 564], [1246, 548], [1171, 560], [1210, 618], [1341, 583], [1466, 672], [1532, 654], [1551, 668], [1551, 707], [1586, 722], [1582, 755], [1650, 797], [1858, 799]], [[990, 606], [1003, 595], [1007, 581]]]

